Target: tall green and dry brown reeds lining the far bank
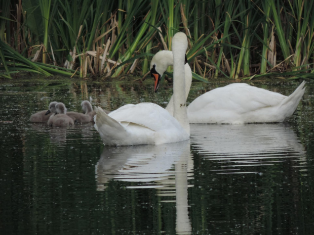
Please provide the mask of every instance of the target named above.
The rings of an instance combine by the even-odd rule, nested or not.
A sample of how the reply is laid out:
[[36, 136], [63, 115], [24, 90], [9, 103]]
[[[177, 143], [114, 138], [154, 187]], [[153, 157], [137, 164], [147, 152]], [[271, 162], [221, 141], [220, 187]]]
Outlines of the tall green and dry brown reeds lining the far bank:
[[187, 34], [195, 79], [313, 77], [314, 0], [0, 1], [0, 76], [145, 77]]

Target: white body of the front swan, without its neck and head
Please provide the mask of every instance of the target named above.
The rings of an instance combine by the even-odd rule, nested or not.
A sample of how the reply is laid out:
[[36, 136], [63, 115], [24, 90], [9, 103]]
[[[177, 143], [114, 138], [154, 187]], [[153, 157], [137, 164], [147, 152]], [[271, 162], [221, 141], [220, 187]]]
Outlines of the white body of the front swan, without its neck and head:
[[125, 105], [109, 114], [98, 107], [95, 129], [105, 145], [160, 145], [188, 139], [180, 123], [152, 103]]

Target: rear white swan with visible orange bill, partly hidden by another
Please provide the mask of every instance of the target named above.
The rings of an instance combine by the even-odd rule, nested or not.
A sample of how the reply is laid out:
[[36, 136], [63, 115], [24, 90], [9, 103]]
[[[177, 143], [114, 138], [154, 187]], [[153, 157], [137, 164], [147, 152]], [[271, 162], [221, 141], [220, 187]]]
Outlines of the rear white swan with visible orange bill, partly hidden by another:
[[[172, 65], [170, 51], [160, 51], [150, 63], [153, 77], [161, 79], [168, 66]], [[158, 67], [158, 70], [155, 68]], [[186, 95], [188, 95], [192, 74], [185, 65]], [[208, 91], [195, 99], [187, 107], [190, 123], [254, 123], [284, 122], [296, 110], [303, 93], [305, 81], [289, 96], [266, 89], [250, 86], [246, 83], [233, 83]], [[155, 82], [155, 91], [159, 82]], [[304, 87], [304, 88], [303, 88]], [[187, 96], [186, 96], [187, 97]], [[173, 113], [173, 101], [167, 110]]]

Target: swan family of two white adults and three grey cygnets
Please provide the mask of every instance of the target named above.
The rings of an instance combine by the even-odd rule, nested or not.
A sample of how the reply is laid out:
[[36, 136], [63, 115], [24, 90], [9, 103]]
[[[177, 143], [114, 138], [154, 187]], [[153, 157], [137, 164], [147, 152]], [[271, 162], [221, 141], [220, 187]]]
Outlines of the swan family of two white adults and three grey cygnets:
[[92, 122], [104, 145], [160, 145], [181, 142], [190, 137], [190, 123], [269, 123], [284, 122], [296, 110], [305, 91], [303, 81], [290, 96], [248, 85], [233, 83], [186, 100], [192, 72], [186, 60], [187, 37], [178, 32], [172, 39], [172, 51], [160, 51], [150, 63], [154, 91], [169, 66], [173, 66], [173, 96], [164, 109], [153, 103], [128, 104], [108, 112], [83, 101], [83, 113], [67, 112], [63, 103], [51, 102], [48, 111], [30, 117], [31, 122], [50, 126], [69, 126]]

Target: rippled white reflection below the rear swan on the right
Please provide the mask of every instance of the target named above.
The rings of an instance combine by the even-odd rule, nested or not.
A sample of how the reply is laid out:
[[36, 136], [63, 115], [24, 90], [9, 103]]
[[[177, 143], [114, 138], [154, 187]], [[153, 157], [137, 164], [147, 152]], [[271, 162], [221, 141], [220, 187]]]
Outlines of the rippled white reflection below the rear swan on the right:
[[[205, 134], [207, 133], [207, 134]], [[261, 173], [284, 161], [306, 171], [306, 155], [296, 133], [287, 123], [243, 125], [191, 125], [191, 145], [204, 159], [215, 161], [219, 174]]]

